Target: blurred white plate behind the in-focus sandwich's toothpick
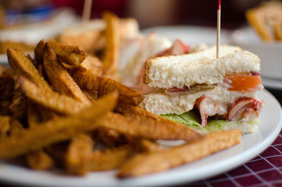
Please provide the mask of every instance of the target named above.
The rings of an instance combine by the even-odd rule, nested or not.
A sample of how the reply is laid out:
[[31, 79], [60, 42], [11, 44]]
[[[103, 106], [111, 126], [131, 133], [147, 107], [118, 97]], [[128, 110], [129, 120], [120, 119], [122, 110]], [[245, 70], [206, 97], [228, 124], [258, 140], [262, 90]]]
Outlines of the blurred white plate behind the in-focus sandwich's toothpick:
[[[157, 32], [157, 34], [168, 37], [170, 40], [181, 39], [185, 44], [196, 45], [206, 43], [216, 44], [216, 28], [197, 27], [197, 26], [164, 26], [142, 30], [142, 33]], [[230, 32], [221, 30], [221, 43], [228, 44]]]

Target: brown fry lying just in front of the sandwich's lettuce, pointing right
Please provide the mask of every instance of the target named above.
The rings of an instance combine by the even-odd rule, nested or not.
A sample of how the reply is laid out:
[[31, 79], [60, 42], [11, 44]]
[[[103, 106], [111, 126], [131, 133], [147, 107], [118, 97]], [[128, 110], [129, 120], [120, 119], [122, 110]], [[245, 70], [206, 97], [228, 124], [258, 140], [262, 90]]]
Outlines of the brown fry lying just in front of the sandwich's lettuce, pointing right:
[[200, 134], [191, 133], [187, 126], [175, 126], [174, 123], [161, 123], [154, 120], [137, 119], [121, 114], [109, 113], [102, 126], [112, 128], [124, 135], [153, 140], [194, 140]]

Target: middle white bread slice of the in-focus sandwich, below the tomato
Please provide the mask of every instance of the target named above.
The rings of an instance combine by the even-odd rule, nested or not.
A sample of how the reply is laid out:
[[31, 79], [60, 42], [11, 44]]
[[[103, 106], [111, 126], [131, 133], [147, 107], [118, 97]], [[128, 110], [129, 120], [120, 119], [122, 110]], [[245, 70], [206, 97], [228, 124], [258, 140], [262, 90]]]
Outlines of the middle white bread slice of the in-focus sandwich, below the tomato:
[[217, 85], [212, 90], [202, 92], [184, 92], [180, 95], [166, 95], [164, 92], [149, 93], [140, 103], [140, 107], [154, 114], [183, 114], [193, 109], [197, 98], [207, 96], [214, 102], [221, 104], [232, 104], [240, 97], [254, 97], [254, 92], [228, 91]]

